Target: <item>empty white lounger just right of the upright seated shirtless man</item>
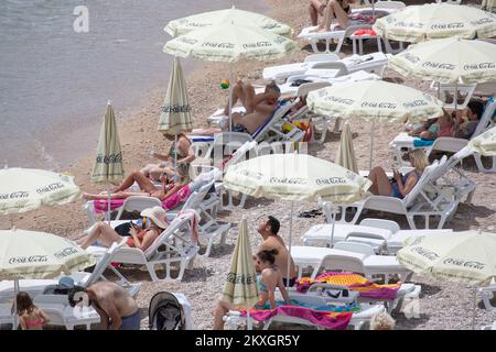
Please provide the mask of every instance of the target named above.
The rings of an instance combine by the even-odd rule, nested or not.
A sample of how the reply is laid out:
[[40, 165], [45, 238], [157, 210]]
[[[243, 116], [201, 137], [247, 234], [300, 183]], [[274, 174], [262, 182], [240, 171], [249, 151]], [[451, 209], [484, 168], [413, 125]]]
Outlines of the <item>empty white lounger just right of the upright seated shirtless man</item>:
[[302, 276], [304, 267], [312, 267], [310, 276], [315, 278], [320, 268], [339, 270], [365, 275], [400, 275], [401, 282], [407, 282], [412, 273], [398, 263], [392, 255], [366, 255], [363, 253], [342, 251], [317, 246], [292, 246], [291, 256], [298, 266], [298, 277]]

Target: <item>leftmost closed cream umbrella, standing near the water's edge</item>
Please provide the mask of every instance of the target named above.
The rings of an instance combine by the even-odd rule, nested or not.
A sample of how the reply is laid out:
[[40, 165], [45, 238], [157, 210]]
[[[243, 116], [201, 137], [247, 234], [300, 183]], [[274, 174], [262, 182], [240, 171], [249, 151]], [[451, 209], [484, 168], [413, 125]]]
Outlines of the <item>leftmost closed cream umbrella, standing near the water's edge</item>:
[[97, 155], [91, 172], [93, 183], [107, 183], [108, 185], [108, 221], [110, 221], [110, 184], [120, 183], [125, 177], [122, 165], [122, 151], [119, 133], [117, 131], [116, 116], [109, 100], [100, 128]]

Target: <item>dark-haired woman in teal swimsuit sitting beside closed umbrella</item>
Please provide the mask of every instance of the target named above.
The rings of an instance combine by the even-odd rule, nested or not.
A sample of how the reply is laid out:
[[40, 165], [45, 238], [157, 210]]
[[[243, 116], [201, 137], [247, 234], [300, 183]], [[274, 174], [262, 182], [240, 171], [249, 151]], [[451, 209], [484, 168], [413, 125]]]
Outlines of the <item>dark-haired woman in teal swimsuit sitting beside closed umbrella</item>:
[[[257, 301], [255, 308], [263, 309], [267, 301], [270, 304], [270, 309], [276, 309], [276, 288], [281, 292], [282, 298], [285, 305], [290, 305], [288, 292], [282, 283], [282, 273], [277, 265], [276, 255], [277, 250], [260, 251], [255, 258], [255, 266], [260, 275], [257, 277], [258, 287], [260, 292], [260, 300]], [[213, 311], [214, 315], [214, 330], [222, 330], [224, 328], [223, 317], [229, 309], [234, 309], [233, 305], [219, 300], [216, 308]]]

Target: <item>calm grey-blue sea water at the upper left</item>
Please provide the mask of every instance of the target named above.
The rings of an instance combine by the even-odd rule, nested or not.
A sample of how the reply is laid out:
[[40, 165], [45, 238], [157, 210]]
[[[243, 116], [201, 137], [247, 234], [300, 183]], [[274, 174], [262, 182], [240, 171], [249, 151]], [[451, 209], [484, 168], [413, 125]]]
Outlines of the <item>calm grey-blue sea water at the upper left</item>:
[[261, 0], [0, 1], [0, 167], [57, 169], [96, 150], [107, 100], [131, 112], [166, 89], [165, 24], [233, 4], [267, 11]]

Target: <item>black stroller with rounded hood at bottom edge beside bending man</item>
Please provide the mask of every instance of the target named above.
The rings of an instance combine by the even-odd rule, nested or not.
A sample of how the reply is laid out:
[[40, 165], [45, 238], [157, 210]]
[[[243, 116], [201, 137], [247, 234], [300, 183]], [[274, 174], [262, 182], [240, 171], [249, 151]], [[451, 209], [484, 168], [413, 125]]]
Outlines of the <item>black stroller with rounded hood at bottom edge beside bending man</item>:
[[148, 309], [150, 330], [184, 330], [183, 308], [171, 293], [161, 292], [150, 300]]

